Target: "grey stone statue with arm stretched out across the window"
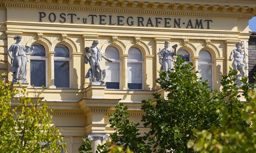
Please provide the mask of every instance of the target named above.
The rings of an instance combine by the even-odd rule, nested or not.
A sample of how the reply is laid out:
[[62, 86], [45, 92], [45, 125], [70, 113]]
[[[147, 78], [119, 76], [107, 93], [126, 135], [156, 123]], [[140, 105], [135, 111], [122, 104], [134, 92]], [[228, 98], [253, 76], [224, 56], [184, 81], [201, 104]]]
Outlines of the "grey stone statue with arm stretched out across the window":
[[84, 63], [90, 64], [90, 69], [85, 75], [85, 78], [89, 78], [90, 82], [103, 82], [106, 72], [105, 69], [102, 70], [102, 66], [100, 64], [102, 58], [108, 62], [112, 62], [103, 55], [101, 49], [97, 47], [98, 43], [98, 40], [94, 40], [92, 46], [85, 47], [84, 49]]

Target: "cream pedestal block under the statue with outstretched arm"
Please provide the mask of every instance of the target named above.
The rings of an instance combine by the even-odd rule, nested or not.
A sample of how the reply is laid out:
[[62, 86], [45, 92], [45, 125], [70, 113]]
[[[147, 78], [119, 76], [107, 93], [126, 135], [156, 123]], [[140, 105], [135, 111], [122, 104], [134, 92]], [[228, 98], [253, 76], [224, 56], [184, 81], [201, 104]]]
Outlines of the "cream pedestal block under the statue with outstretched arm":
[[85, 98], [105, 98], [104, 90], [106, 85], [103, 82], [91, 82], [89, 87], [85, 88]]

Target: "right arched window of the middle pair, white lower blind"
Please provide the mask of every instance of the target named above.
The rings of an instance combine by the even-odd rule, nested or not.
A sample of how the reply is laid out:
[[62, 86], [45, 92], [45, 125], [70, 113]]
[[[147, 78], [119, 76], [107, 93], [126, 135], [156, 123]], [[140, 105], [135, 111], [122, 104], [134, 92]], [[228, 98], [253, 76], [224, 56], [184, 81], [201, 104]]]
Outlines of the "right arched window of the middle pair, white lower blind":
[[137, 47], [131, 47], [128, 54], [128, 88], [143, 89], [143, 54]]

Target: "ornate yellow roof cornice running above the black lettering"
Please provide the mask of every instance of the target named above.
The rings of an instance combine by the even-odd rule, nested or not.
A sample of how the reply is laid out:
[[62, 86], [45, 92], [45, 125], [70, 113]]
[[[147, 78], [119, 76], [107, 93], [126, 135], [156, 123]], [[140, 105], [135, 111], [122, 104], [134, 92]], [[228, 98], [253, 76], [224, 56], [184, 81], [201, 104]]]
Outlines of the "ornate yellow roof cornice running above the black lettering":
[[192, 3], [185, 0], [176, 2], [171, 0], [147, 0], [147, 2], [140, 1], [140, 3], [131, 0], [57, 0], [57, 2], [52, 0], [1, 0], [0, 6], [23, 9], [214, 16], [244, 19], [250, 19], [256, 15], [255, 3], [250, 3], [248, 0], [244, 0], [243, 3], [239, 3], [237, 0], [230, 3], [220, 3], [220, 1], [215, 0], [211, 3], [207, 1], [193, 1]]

